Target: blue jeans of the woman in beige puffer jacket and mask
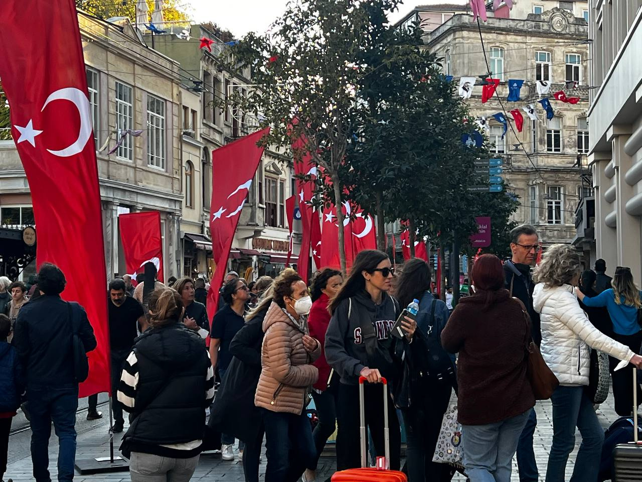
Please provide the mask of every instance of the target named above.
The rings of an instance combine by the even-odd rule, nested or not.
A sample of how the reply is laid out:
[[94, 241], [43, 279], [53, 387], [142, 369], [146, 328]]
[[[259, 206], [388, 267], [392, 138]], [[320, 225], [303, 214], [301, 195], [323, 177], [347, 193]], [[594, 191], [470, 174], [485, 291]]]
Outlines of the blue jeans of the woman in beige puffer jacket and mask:
[[314, 463], [317, 449], [305, 411], [301, 415], [261, 409], [265, 424], [265, 482], [296, 482]]

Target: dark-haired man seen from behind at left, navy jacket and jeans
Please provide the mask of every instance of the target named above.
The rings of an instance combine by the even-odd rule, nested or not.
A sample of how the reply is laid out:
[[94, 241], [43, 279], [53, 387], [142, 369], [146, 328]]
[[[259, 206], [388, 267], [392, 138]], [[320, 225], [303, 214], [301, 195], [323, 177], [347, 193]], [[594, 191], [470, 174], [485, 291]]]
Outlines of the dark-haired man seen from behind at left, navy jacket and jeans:
[[[58, 436], [58, 480], [71, 481], [76, 459], [78, 382], [74, 374], [73, 323], [85, 352], [96, 348], [94, 330], [85, 308], [60, 298], [65, 275], [56, 265], [43, 263], [38, 274], [42, 296], [26, 303], [15, 321], [12, 344], [26, 373], [31, 415], [33, 478], [49, 482], [51, 422]], [[72, 319], [70, 319], [73, 317]]]

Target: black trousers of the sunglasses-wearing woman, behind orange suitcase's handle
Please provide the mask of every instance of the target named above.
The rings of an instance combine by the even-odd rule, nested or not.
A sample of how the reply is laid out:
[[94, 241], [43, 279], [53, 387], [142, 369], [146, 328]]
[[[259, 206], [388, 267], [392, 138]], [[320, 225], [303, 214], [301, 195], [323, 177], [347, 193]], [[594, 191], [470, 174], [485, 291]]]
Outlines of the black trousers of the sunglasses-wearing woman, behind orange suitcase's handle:
[[[365, 384], [365, 424], [370, 429], [377, 456], [385, 456], [383, 434], [383, 385]], [[401, 467], [401, 431], [394, 403], [388, 392], [388, 426], [390, 427], [390, 469]], [[336, 422], [336, 469], [361, 467], [361, 437], [359, 431], [359, 386], [339, 385]], [[366, 441], [367, 443], [367, 441]]]

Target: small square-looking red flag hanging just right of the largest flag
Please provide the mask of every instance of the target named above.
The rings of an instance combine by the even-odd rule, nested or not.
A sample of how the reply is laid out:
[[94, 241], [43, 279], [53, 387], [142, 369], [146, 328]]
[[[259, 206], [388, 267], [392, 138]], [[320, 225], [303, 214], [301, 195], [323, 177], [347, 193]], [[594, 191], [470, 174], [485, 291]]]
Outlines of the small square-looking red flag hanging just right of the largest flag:
[[154, 263], [156, 279], [164, 283], [162, 266], [162, 236], [159, 211], [121, 214], [118, 217], [127, 274], [136, 280], [147, 262]]

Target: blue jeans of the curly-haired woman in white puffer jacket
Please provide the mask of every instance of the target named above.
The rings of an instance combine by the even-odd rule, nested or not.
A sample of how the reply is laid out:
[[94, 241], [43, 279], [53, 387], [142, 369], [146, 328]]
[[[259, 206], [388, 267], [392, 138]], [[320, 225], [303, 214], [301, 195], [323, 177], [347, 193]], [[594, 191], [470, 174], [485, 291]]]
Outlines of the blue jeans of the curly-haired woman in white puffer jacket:
[[582, 445], [575, 460], [571, 482], [596, 480], [600, 471], [604, 431], [583, 386], [559, 386], [553, 402], [553, 445], [548, 456], [546, 482], [564, 482], [566, 461], [575, 447], [575, 427], [582, 434]]

